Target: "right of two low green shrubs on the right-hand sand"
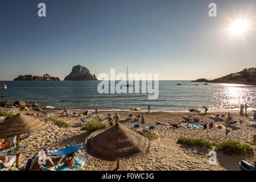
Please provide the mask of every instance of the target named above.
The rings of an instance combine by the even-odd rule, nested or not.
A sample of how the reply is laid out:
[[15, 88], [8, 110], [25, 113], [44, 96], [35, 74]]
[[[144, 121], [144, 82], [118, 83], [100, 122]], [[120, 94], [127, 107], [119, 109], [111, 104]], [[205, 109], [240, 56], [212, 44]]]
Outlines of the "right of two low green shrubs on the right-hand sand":
[[217, 150], [222, 151], [224, 154], [232, 155], [232, 154], [252, 154], [253, 153], [253, 147], [247, 145], [247, 144], [241, 144], [239, 142], [235, 142], [233, 140], [229, 140], [226, 142], [221, 142], [218, 144]]

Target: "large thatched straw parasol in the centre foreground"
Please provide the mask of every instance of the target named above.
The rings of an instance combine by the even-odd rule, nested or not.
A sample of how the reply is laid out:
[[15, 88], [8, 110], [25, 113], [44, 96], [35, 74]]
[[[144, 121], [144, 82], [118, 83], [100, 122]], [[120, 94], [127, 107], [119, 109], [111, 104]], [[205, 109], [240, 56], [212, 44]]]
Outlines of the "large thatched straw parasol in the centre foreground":
[[117, 161], [146, 154], [149, 140], [138, 131], [115, 123], [108, 129], [93, 132], [85, 139], [85, 149], [89, 155], [106, 161]]

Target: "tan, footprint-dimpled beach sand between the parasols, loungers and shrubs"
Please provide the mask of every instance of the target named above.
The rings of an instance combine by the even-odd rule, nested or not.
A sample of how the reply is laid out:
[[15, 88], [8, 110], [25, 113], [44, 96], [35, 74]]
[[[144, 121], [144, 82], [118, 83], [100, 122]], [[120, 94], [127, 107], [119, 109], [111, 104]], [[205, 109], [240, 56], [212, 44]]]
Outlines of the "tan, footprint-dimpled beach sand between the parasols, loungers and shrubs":
[[[4, 109], [4, 108], [0, 108]], [[62, 111], [62, 110], [61, 110]], [[85, 130], [81, 130], [81, 117], [63, 117], [59, 113], [61, 111], [48, 110], [48, 112], [54, 113], [53, 118], [61, 119], [72, 125], [72, 127], [63, 128], [55, 125], [51, 121], [48, 122], [48, 127], [43, 130], [36, 131], [32, 133], [32, 137], [23, 140], [24, 146], [28, 147], [28, 150], [22, 154], [20, 157], [20, 170], [24, 169], [26, 166], [27, 159], [38, 154], [38, 151], [44, 150], [46, 147], [55, 147], [57, 150], [65, 147], [72, 146], [84, 142], [85, 138], [88, 136]], [[68, 110], [69, 111], [69, 110]], [[35, 111], [19, 111], [23, 113], [38, 113], [40, 116], [37, 118], [44, 119], [42, 113]], [[69, 111], [71, 112], [71, 111]], [[212, 129], [186, 129], [184, 127], [179, 127], [177, 129], [168, 129], [163, 125], [156, 125], [159, 123], [185, 123], [184, 119], [181, 118], [183, 115], [193, 115], [188, 111], [174, 111], [174, 112], [151, 112], [150, 114], [143, 111], [118, 111], [119, 117], [121, 118], [120, 123], [130, 127], [136, 123], [140, 122], [126, 121], [129, 114], [133, 114], [134, 117], [137, 114], [144, 115], [145, 125], [144, 126], [155, 126], [154, 133], [156, 134], [156, 140], [150, 141], [150, 152], [147, 154], [146, 158], [142, 159], [129, 159], [126, 160], [128, 170], [240, 170], [239, 162], [240, 160], [247, 160], [251, 164], [254, 163], [254, 155], [225, 155], [220, 151], [217, 152], [217, 164], [209, 164], [209, 149], [203, 147], [188, 147], [183, 144], [177, 144], [177, 139], [179, 137], [190, 137], [190, 138], [203, 138], [209, 140], [210, 142], [220, 143], [225, 140], [235, 140], [237, 142], [245, 143], [252, 142], [253, 135], [255, 134], [255, 127], [246, 124], [249, 121], [245, 116], [241, 117], [238, 115], [239, 111], [230, 111], [233, 119], [238, 123], [232, 127], [226, 126], [224, 122], [216, 122], [209, 118], [209, 115], [215, 114], [228, 114], [227, 111], [212, 111], [207, 113], [207, 115], [200, 115], [201, 121], [199, 123], [210, 123], [213, 122], [214, 125], [221, 124], [226, 126], [230, 130], [230, 133], [226, 136], [225, 129], [218, 129], [217, 127]], [[107, 115], [115, 114], [115, 111], [100, 111], [99, 114], [106, 118]], [[250, 116], [253, 115], [252, 111], [249, 111]], [[3, 117], [0, 117], [0, 121], [3, 121]], [[240, 124], [239, 121], [243, 121]], [[86, 152], [83, 150], [86, 154]], [[60, 158], [53, 159], [56, 164]], [[64, 162], [64, 161], [63, 161]], [[63, 164], [61, 162], [58, 166]], [[15, 164], [13, 165], [15, 166]], [[57, 166], [52, 166], [47, 160], [45, 165], [50, 168], [57, 168]], [[110, 163], [102, 163], [101, 160], [91, 158], [86, 162], [85, 170], [108, 170]], [[13, 168], [10, 168], [13, 169]], [[81, 168], [77, 169], [81, 170]]]

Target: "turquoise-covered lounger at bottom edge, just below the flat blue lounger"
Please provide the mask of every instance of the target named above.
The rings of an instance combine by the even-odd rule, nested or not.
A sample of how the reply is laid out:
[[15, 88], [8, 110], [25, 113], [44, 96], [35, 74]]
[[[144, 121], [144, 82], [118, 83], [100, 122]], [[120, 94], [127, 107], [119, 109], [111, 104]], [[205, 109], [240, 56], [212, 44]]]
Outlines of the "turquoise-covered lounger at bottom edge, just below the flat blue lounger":
[[41, 166], [41, 169], [43, 169], [43, 171], [76, 171], [77, 168], [82, 168], [84, 169], [84, 165], [85, 162], [89, 159], [89, 157], [85, 154], [77, 154], [75, 156], [75, 160], [74, 160], [74, 168], [68, 168], [65, 164], [63, 164], [62, 166], [56, 168], [56, 169], [50, 169], [44, 166]]

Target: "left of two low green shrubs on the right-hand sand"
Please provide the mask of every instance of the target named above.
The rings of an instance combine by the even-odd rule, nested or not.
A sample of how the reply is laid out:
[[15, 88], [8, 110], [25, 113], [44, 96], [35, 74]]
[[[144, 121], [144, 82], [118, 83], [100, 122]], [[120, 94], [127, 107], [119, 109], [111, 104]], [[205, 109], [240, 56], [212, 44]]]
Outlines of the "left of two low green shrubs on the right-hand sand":
[[204, 139], [193, 139], [193, 138], [187, 138], [187, 137], [180, 137], [177, 140], [177, 143], [185, 144], [187, 146], [201, 146], [201, 147], [212, 148], [212, 143], [210, 143], [209, 141], [204, 140]]

